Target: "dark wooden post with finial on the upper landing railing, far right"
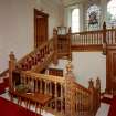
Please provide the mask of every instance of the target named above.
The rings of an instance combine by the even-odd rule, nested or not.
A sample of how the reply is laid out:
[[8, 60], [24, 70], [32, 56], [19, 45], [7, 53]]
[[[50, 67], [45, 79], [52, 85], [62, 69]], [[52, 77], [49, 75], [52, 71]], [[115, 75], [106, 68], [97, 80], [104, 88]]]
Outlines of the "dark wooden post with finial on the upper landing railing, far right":
[[107, 41], [106, 41], [106, 22], [103, 23], [103, 54], [106, 55]]

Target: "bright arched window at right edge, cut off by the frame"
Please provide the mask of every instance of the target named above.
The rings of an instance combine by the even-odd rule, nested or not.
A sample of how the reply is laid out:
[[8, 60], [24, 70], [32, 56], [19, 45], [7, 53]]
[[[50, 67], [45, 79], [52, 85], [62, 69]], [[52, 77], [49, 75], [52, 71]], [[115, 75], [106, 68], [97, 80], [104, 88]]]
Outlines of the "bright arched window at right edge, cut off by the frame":
[[116, 0], [110, 0], [107, 4], [107, 27], [116, 25]]

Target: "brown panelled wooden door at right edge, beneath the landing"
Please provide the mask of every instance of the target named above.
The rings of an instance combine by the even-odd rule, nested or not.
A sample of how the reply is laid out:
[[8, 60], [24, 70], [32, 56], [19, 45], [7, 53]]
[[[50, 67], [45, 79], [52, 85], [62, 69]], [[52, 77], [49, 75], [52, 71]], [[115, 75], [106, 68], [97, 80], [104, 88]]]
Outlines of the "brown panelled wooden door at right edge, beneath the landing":
[[107, 51], [106, 67], [106, 89], [108, 93], [116, 94], [116, 49]]

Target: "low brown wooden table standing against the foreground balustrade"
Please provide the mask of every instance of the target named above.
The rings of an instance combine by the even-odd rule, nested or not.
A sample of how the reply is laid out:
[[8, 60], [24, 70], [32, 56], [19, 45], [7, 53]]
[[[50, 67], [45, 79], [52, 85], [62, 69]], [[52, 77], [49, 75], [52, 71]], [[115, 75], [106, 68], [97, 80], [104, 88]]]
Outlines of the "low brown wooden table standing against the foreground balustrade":
[[27, 103], [27, 107], [31, 105], [31, 103], [35, 104], [35, 112], [38, 110], [38, 107], [40, 107], [40, 114], [42, 108], [52, 99], [52, 96], [48, 94], [41, 94], [41, 93], [25, 93], [25, 92], [17, 92], [17, 91], [10, 91], [11, 99], [13, 99], [13, 96], [18, 97], [19, 104], [21, 104], [21, 101], [23, 99]]

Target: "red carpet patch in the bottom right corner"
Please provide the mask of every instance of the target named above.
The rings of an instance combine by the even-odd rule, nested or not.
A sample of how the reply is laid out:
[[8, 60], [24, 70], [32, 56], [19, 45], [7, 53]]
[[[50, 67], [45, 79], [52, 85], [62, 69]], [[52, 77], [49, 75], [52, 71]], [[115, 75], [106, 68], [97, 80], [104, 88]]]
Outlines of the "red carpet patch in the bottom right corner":
[[116, 116], [116, 96], [113, 97], [108, 116]]

